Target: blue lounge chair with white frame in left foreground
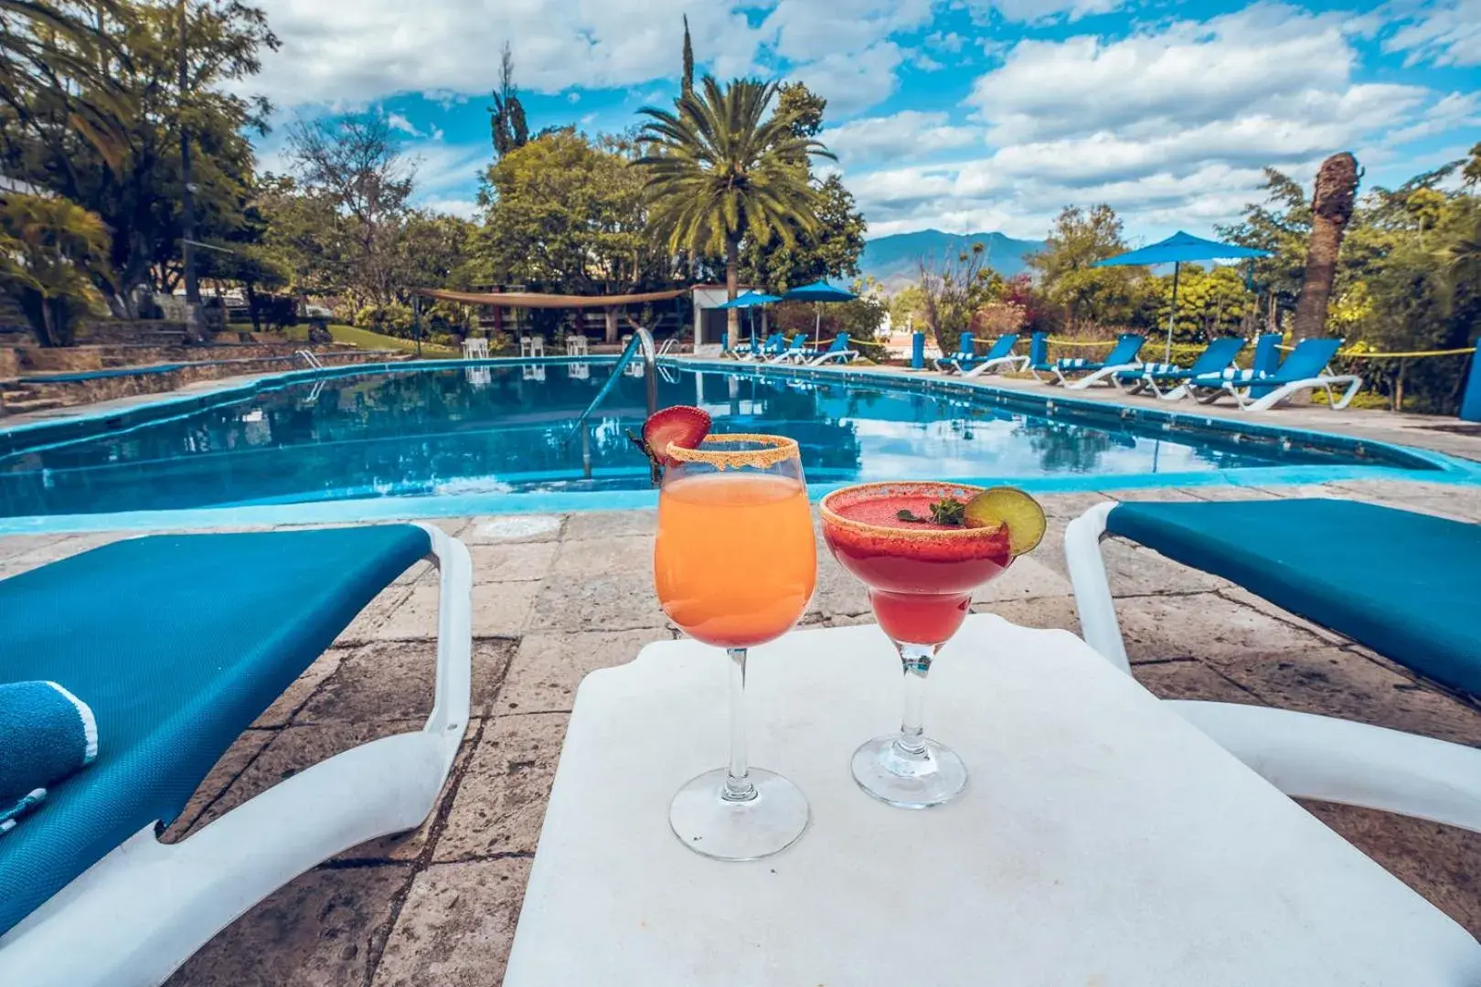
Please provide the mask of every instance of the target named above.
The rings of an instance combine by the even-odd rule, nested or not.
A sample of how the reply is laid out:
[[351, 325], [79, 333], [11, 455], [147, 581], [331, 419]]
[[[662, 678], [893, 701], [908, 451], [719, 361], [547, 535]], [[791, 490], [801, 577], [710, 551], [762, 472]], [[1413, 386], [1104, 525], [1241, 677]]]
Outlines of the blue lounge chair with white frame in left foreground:
[[[441, 568], [435, 700], [419, 731], [335, 755], [166, 845], [216, 759], [376, 593]], [[421, 824], [468, 724], [468, 549], [434, 525], [117, 542], [0, 582], [9, 679], [98, 722], [98, 759], [0, 838], [0, 983], [160, 984], [320, 861]]]

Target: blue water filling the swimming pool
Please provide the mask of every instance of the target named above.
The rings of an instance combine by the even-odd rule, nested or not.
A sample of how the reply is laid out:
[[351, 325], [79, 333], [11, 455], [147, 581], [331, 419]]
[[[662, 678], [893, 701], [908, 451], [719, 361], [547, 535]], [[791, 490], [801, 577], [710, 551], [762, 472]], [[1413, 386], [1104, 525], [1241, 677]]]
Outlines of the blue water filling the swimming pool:
[[[610, 373], [604, 363], [352, 373], [173, 417], [135, 411], [99, 422], [93, 432], [104, 434], [0, 448], [0, 516], [644, 490], [646, 462], [625, 435], [643, 420], [640, 377], [624, 374], [575, 428]], [[665, 367], [659, 404], [701, 404], [718, 431], [791, 435], [813, 484], [1383, 465], [1351, 448], [1164, 431], [1118, 420], [1114, 408], [1043, 417], [1022, 402], [874, 380]], [[141, 420], [151, 416], [158, 420]]]

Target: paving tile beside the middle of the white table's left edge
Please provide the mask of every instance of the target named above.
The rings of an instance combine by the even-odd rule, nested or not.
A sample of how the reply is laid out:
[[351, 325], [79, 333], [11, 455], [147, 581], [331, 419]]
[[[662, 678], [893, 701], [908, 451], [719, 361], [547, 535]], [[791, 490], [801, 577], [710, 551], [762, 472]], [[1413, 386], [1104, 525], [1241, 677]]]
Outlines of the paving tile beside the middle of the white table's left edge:
[[566, 713], [532, 713], [484, 722], [435, 861], [535, 852], [569, 719]]

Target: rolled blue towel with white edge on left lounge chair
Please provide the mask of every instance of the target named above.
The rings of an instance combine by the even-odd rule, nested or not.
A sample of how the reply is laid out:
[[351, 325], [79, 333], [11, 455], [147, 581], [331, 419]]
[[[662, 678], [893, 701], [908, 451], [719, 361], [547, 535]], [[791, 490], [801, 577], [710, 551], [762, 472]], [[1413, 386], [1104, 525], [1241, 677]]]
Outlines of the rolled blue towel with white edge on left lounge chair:
[[87, 703], [56, 682], [0, 685], [0, 814], [25, 811], [30, 805], [21, 802], [96, 756], [98, 724]]

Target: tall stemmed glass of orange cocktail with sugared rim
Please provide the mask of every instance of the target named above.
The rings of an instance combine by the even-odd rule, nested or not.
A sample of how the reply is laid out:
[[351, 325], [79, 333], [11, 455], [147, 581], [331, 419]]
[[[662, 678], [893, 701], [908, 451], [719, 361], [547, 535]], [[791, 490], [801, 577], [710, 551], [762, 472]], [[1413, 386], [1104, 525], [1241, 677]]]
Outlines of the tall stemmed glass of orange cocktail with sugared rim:
[[709, 435], [669, 444], [658, 500], [653, 583], [669, 620], [730, 657], [730, 764], [689, 781], [669, 806], [674, 835], [720, 860], [755, 860], [807, 829], [801, 790], [746, 761], [746, 648], [791, 630], [818, 580], [797, 442]]

